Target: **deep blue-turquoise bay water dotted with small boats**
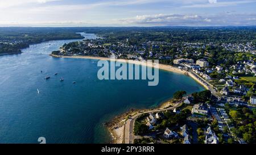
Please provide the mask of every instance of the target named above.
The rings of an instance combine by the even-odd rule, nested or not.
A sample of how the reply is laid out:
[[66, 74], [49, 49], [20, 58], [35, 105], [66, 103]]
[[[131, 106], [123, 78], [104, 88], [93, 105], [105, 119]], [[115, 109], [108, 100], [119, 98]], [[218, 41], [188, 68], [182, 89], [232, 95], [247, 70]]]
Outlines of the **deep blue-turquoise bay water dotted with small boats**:
[[38, 143], [38, 137], [47, 143], [108, 143], [102, 122], [114, 115], [158, 106], [177, 90], [204, 90], [190, 77], [165, 71], [153, 87], [142, 80], [100, 81], [97, 60], [48, 56], [71, 41], [35, 44], [21, 55], [0, 57], [0, 143]]

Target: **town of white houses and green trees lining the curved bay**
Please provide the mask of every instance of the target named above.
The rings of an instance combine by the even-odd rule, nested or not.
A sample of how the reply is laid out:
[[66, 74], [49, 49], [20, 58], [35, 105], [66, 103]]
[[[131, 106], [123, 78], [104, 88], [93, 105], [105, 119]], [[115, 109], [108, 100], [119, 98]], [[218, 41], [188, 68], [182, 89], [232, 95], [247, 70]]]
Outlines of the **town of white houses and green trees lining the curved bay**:
[[[98, 33], [96, 40], [64, 44], [52, 54], [159, 60], [187, 72], [207, 88], [193, 94], [178, 91], [168, 107], [129, 115], [125, 128], [133, 131], [124, 135], [123, 143], [256, 143], [255, 39], [247, 39], [243, 30], [236, 30], [237, 40], [228, 35], [217, 38], [220, 30], [205, 31], [155, 30], [154, 36], [149, 35], [152, 31], [106, 31]], [[184, 33], [191, 38], [175, 39]], [[196, 39], [192, 39], [194, 33]]]

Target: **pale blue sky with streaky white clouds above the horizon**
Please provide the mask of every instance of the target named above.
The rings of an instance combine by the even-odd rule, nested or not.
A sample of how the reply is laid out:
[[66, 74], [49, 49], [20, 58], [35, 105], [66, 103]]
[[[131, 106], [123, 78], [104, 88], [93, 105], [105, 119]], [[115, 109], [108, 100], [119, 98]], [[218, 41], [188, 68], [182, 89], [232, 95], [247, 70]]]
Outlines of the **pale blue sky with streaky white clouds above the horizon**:
[[0, 0], [0, 26], [256, 26], [256, 0]]

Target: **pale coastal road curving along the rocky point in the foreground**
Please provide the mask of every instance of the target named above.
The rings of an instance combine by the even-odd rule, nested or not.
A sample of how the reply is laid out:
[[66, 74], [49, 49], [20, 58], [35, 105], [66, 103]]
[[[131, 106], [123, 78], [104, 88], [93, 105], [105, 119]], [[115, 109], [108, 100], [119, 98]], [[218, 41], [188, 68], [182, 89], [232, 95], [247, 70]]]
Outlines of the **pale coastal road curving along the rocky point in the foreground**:
[[131, 116], [128, 120], [125, 122], [125, 135], [124, 135], [124, 143], [125, 144], [133, 144], [134, 139], [140, 138], [141, 136], [136, 136], [133, 133], [135, 120], [142, 114], [149, 114], [149, 113], [155, 113], [155, 112], [163, 112], [166, 110], [174, 110], [174, 108], [180, 107], [183, 103], [183, 100], [181, 102], [176, 103], [174, 106], [170, 108], [162, 108], [157, 110], [145, 110], [145, 111], [139, 111], [138, 114]]

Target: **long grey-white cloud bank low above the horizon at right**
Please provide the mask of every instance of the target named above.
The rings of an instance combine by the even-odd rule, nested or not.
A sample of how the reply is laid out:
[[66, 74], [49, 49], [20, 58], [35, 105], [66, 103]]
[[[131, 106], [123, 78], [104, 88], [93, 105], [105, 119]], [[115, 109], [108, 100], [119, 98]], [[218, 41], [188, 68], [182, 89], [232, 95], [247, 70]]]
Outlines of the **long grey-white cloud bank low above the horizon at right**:
[[255, 14], [156, 14], [117, 19], [115, 23], [150, 26], [248, 26], [256, 24], [253, 19]]

